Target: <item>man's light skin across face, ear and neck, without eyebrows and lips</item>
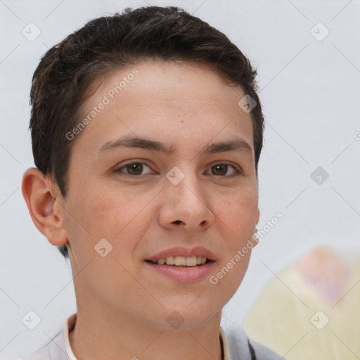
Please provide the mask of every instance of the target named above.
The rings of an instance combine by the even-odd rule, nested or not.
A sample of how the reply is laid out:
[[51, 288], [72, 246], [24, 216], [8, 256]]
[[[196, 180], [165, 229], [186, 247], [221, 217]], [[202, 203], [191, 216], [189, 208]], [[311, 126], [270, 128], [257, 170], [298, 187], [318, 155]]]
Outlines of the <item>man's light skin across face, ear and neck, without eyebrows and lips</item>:
[[[68, 244], [77, 297], [70, 345], [78, 360], [220, 360], [221, 309], [243, 280], [250, 252], [216, 285], [209, 276], [179, 283], [145, 259], [174, 246], [203, 246], [215, 255], [214, 275], [253, 235], [252, 121], [238, 106], [245, 93], [206, 65], [146, 61], [99, 79], [83, 115], [134, 68], [139, 75], [72, 140], [66, 197], [34, 168], [25, 172], [23, 194], [49, 242]], [[174, 152], [100, 150], [123, 136]], [[201, 152], [233, 140], [250, 150]], [[142, 172], [125, 166], [134, 162]], [[177, 185], [166, 177], [174, 166], [185, 175]], [[106, 257], [94, 250], [102, 238], [113, 246]], [[184, 319], [177, 329], [167, 322], [174, 311]]]

